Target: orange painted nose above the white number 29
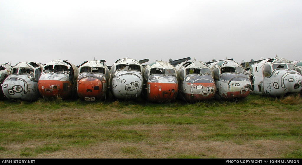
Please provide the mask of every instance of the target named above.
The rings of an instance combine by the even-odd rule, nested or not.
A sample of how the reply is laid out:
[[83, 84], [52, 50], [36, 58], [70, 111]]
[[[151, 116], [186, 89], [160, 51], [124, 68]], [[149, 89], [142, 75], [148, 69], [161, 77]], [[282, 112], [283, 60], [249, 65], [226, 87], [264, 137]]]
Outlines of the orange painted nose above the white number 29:
[[97, 78], [86, 77], [78, 81], [78, 95], [82, 99], [85, 97], [100, 99], [103, 93], [103, 83]]

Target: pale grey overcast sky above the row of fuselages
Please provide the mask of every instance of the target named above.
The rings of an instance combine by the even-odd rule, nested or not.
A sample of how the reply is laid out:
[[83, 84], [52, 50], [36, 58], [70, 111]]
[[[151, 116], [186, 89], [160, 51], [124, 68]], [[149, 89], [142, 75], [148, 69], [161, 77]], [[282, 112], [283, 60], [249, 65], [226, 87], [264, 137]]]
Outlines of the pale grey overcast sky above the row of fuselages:
[[302, 1], [0, 0], [0, 63], [302, 60]]

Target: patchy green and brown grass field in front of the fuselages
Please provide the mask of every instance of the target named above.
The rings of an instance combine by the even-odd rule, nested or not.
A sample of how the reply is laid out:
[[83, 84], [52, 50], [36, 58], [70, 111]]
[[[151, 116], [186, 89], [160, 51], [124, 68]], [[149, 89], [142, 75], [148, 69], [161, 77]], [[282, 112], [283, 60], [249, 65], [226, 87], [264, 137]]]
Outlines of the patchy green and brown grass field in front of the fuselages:
[[1, 158], [302, 158], [302, 99], [0, 101]]

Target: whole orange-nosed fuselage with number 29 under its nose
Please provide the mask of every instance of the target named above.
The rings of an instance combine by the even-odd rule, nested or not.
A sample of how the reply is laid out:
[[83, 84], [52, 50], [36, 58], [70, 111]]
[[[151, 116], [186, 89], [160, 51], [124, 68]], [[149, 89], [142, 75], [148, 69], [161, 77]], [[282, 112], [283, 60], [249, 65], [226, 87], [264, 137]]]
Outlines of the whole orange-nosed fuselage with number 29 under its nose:
[[108, 96], [110, 70], [103, 62], [84, 62], [77, 74], [77, 92], [81, 99], [95, 101]]

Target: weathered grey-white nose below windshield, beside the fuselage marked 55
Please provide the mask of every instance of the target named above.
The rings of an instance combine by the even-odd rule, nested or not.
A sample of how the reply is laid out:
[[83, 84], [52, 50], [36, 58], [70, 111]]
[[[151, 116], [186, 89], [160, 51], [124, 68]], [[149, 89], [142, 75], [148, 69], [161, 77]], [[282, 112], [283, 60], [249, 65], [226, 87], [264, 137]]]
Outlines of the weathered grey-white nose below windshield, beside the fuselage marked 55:
[[223, 73], [216, 81], [217, 95], [224, 100], [247, 97], [251, 90], [251, 82], [245, 74]]

